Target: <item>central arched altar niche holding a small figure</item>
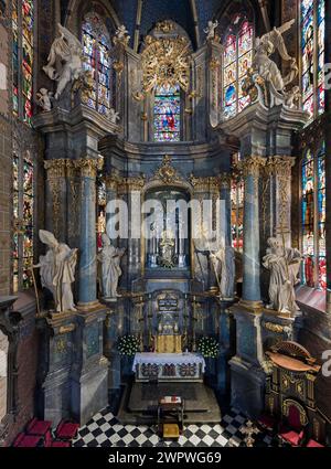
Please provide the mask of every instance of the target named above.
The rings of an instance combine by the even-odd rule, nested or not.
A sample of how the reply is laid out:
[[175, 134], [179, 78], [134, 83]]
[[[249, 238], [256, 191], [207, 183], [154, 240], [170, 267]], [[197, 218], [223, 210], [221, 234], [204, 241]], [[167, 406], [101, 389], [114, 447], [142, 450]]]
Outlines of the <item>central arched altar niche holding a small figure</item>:
[[[146, 193], [146, 201], [158, 201], [161, 213], [156, 213], [156, 221], [149, 226], [151, 238], [146, 239], [146, 267], [157, 273], [171, 270], [190, 270], [190, 241], [184, 236], [191, 232], [190, 213], [180, 214], [179, 205], [190, 201], [190, 194], [184, 190], [173, 188], [153, 189]], [[175, 212], [167, 212], [167, 203], [177, 204]], [[148, 221], [146, 223], [149, 223]]]

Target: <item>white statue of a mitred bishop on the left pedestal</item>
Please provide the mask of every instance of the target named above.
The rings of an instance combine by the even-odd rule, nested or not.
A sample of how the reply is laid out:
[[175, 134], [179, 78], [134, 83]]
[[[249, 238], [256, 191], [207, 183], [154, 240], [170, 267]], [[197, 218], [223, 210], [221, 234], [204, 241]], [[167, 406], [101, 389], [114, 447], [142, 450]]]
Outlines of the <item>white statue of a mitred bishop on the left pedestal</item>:
[[49, 246], [46, 255], [40, 256], [35, 266], [40, 267], [43, 287], [52, 291], [57, 312], [76, 311], [72, 284], [75, 280], [78, 249], [58, 243], [53, 233], [45, 230], [39, 231], [39, 237]]

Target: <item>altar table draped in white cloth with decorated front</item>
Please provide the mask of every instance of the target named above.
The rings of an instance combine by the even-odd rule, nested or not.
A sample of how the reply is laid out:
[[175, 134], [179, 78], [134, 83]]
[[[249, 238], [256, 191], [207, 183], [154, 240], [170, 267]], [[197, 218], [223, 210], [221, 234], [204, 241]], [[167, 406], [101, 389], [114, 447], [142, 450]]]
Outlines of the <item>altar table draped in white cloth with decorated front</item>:
[[204, 370], [199, 353], [136, 353], [132, 365], [137, 382], [202, 382]]

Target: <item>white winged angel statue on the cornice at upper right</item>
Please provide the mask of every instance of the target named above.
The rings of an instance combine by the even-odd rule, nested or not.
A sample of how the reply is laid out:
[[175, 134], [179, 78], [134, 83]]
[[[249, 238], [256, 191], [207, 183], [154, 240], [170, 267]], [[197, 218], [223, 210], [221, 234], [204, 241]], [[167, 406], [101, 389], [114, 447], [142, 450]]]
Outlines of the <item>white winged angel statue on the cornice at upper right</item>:
[[[261, 38], [257, 38], [255, 42], [255, 57], [253, 61], [253, 68], [257, 71], [258, 75], [268, 82], [271, 86], [271, 90], [280, 94], [285, 93], [285, 87], [291, 83], [298, 75], [298, 66], [296, 58], [291, 57], [282, 38], [282, 34], [288, 31], [295, 20], [288, 21], [279, 28], [274, 28], [273, 31], [264, 34]], [[270, 58], [270, 55], [276, 51], [284, 61], [289, 62], [289, 73], [282, 77], [280, 70], [276, 62]]]

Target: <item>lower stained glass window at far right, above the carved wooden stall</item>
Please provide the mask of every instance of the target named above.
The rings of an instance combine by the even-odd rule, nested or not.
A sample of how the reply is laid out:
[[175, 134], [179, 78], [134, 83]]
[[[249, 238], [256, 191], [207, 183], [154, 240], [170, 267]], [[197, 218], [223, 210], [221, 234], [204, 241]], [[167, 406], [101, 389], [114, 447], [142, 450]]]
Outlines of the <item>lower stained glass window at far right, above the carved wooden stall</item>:
[[325, 262], [325, 151], [308, 150], [302, 160], [303, 279], [312, 288], [327, 288]]

